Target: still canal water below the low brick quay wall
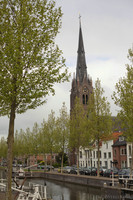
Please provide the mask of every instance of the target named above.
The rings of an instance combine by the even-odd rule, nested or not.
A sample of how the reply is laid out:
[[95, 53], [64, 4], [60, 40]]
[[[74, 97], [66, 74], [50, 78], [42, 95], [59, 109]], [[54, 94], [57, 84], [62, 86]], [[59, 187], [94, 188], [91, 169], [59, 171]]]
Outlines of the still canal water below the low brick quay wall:
[[[5, 175], [0, 171], [0, 178], [5, 178]], [[21, 180], [22, 181], [22, 180]], [[65, 183], [61, 181], [49, 179], [27, 179], [25, 185], [29, 182], [47, 185], [48, 197], [53, 200], [119, 200], [121, 199], [118, 194], [113, 192], [107, 193], [106, 190], [100, 187], [89, 187], [79, 184]]]

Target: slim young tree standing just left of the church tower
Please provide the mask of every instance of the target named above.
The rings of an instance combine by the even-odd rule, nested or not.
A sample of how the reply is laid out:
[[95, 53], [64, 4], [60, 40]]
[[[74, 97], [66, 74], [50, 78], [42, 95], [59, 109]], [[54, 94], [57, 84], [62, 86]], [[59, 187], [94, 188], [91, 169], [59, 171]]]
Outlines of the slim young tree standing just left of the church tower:
[[64, 163], [64, 151], [68, 146], [69, 139], [69, 116], [67, 114], [67, 108], [65, 103], [63, 103], [62, 108], [60, 109], [60, 116], [57, 118], [57, 132], [58, 132], [58, 143], [59, 151], [61, 152], [61, 173]]

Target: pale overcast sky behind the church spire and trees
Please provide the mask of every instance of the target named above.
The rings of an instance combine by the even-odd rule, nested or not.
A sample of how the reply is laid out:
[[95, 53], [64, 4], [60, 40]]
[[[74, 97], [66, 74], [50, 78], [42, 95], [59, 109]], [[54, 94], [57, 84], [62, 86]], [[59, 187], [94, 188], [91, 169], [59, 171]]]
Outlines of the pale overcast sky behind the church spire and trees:
[[[70, 111], [70, 91], [73, 73], [76, 72], [79, 37], [79, 15], [86, 55], [87, 72], [92, 77], [93, 86], [97, 78], [101, 80], [104, 96], [111, 105], [112, 115], [117, 115], [111, 95], [120, 77], [126, 74], [126, 64], [130, 64], [128, 49], [133, 46], [133, 0], [57, 0], [61, 6], [62, 28], [56, 43], [63, 51], [66, 66], [71, 73], [69, 82], [55, 84], [55, 96], [47, 96], [47, 103], [35, 110], [16, 115], [15, 130], [32, 129], [47, 120], [51, 110], [59, 116], [63, 102]], [[9, 119], [0, 118], [0, 137], [7, 138]]]

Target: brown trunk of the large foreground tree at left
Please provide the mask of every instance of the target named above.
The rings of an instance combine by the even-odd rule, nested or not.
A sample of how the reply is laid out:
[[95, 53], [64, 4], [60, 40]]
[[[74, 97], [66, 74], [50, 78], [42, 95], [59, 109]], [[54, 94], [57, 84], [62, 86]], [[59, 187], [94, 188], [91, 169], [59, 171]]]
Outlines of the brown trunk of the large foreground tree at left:
[[13, 142], [14, 142], [14, 122], [15, 122], [15, 103], [11, 105], [9, 120], [9, 133], [7, 138], [7, 188], [6, 200], [12, 200], [11, 182], [12, 182], [12, 161], [13, 161]]

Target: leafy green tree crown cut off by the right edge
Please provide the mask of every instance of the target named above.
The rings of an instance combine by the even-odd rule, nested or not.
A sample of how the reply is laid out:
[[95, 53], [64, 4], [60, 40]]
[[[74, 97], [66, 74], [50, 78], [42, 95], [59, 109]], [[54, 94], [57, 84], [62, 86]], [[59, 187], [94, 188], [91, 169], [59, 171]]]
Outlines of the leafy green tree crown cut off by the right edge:
[[129, 49], [129, 60], [131, 65], [126, 66], [126, 76], [120, 78], [115, 85], [116, 91], [113, 92], [112, 98], [117, 106], [118, 118], [121, 121], [123, 133], [126, 140], [132, 143], [132, 170], [133, 170], [133, 51]]

